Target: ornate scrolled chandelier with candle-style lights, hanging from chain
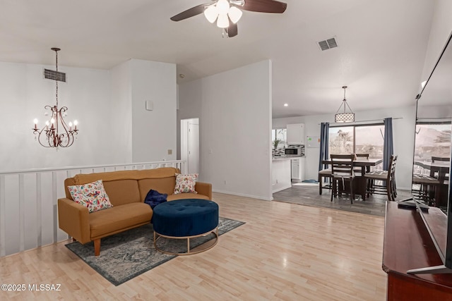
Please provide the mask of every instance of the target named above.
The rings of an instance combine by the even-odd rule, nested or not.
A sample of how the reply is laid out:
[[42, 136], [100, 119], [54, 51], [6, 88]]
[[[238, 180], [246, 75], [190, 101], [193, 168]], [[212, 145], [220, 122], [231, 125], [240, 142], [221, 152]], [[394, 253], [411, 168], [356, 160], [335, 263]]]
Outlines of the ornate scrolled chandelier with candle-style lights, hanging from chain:
[[[44, 109], [50, 111], [50, 118], [45, 122], [45, 126], [41, 129], [37, 128], [37, 119], [35, 119], [35, 128], [32, 130], [33, 134], [35, 134], [35, 140], [40, 142], [40, 145], [43, 147], [70, 147], [74, 140], [76, 140], [78, 123], [77, 121], [73, 121], [73, 123], [70, 122], [67, 124], [63, 117], [67, 116], [66, 111], [68, 108], [63, 106], [61, 109], [58, 109], [58, 81], [66, 81], [66, 77], [64, 73], [58, 72], [58, 51], [61, 49], [52, 48], [52, 50], [55, 51], [57, 58], [57, 71], [44, 70], [44, 75], [46, 75], [45, 73], [50, 73], [50, 78], [54, 78], [55, 80], [55, 85], [57, 86], [57, 92], [55, 93], [57, 104], [54, 106], [44, 106]], [[61, 79], [61, 75], [64, 75], [64, 80]], [[47, 76], [45, 77], [49, 78]], [[49, 112], [46, 111], [45, 115], [48, 116]]]

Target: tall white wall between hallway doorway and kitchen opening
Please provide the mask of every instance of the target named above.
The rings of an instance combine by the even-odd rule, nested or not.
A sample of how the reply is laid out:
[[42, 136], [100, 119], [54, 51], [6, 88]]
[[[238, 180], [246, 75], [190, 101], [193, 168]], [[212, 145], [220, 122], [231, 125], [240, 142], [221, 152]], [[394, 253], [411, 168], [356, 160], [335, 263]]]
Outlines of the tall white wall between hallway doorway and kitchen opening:
[[271, 199], [271, 62], [179, 85], [179, 116], [199, 118], [200, 180]]

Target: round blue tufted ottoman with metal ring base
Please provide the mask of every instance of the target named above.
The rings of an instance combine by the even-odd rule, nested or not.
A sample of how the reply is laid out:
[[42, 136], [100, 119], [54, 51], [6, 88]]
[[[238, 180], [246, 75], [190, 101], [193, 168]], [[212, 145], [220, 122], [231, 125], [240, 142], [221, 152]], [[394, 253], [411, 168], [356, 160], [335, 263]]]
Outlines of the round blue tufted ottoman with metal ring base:
[[[188, 255], [209, 250], [218, 242], [218, 204], [206, 199], [179, 199], [158, 204], [153, 213], [154, 247], [167, 254]], [[215, 241], [196, 251], [190, 250], [190, 238], [215, 235]], [[169, 252], [157, 247], [159, 238], [187, 240], [187, 252]]]

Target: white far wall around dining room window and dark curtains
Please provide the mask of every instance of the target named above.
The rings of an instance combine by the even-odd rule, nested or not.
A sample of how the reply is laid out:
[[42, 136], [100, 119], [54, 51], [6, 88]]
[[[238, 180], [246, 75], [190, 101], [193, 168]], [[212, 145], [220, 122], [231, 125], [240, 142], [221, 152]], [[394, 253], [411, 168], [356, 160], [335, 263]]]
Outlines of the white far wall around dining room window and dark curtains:
[[[332, 122], [334, 113], [328, 115], [300, 116], [273, 119], [273, 128], [285, 128], [290, 123], [304, 123], [305, 135], [320, 136], [320, 123]], [[412, 152], [414, 147], [415, 106], [396, 109], [380, 109], [355, 112], [357, 121], [380, 120], [383, 118], [401, 118], [393, 120], [394, 153], [398, 154], [396, 182], [400, 189], [410, 189], [412, 174]], [[306, 148], [304, 175], [307, 179], [317, 180], [319, 171], [319, 148]]]

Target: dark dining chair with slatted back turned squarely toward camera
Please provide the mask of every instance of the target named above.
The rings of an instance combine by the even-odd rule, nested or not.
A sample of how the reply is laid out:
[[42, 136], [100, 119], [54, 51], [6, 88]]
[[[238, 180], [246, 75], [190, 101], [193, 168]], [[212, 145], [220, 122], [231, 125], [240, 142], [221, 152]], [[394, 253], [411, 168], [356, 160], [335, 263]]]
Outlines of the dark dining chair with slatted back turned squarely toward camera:
[[[345, 183], [350, 184], [350, 202], [353, 204], [355, 194], [353, 193], [353, 180], [355, 171], [353, 170], [353, 160], [355, 154], [331, 154], [331, 202], [333, 197], [346, 192]], [[340, 184], [340, 185], [338, 185]]]

